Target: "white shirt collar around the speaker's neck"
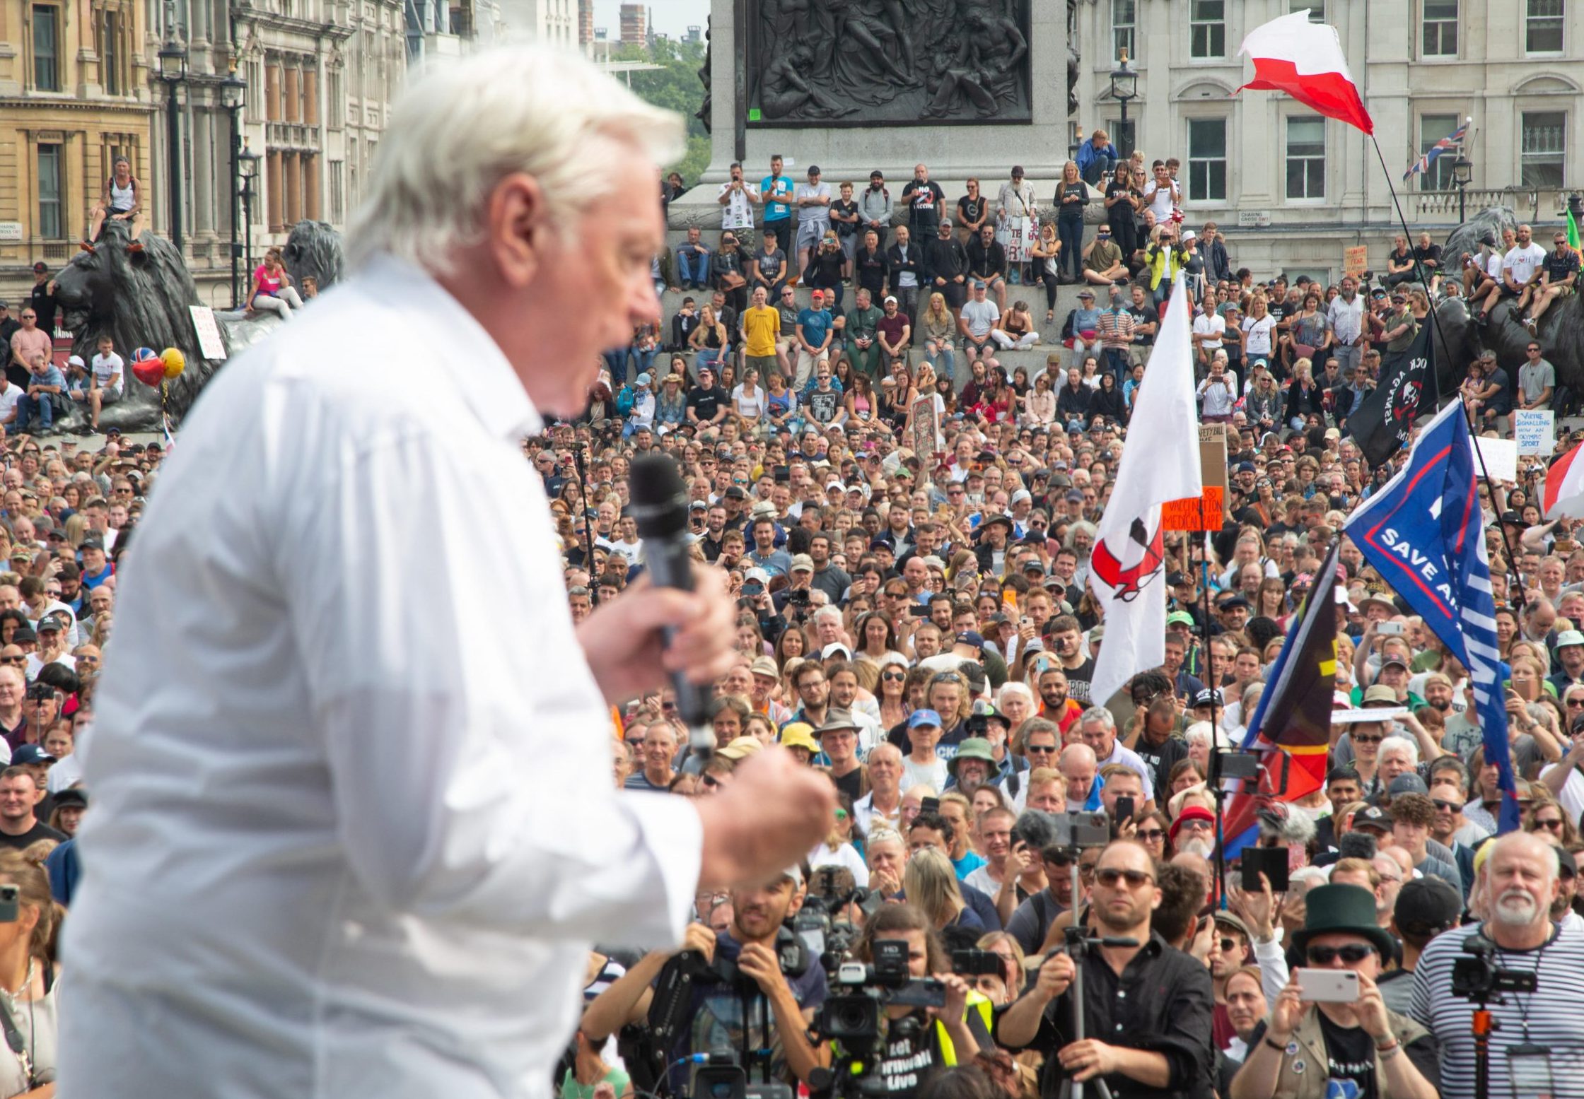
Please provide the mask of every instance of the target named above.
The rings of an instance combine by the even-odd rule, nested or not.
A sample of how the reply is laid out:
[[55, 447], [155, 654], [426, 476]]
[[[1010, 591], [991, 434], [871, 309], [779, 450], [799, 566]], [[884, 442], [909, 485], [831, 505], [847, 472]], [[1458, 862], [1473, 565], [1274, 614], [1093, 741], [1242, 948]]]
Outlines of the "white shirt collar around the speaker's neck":
[[543, 416], [501, 347], [434, 276], [393, 255], [380, 255], [369, 263], [364, 277], [401, 287], [401, 299], [409, 302], [406, 315], [431, 329], [436, 345], [447, 348], [436, 356], [437, 366], [491, 435], [516, 442], [543, 431]]

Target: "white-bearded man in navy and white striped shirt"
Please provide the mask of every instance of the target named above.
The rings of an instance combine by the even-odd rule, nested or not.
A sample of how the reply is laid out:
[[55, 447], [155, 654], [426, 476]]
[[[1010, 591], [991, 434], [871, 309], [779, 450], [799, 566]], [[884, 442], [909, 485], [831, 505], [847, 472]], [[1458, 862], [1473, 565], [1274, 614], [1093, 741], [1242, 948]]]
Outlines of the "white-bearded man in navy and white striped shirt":
[[[1470, 958], [1478, 934], [1494, 944], [1492, 963], [1535, 975], [1535, 991], [1506, 991], [1492, 1002], [1500, 1029], [1491, 1036], [1491, 1094], [1514, 1094], [1508, 1056], [1513, 1047], [1538, 1047], [1549, 1061], [1557, 1099], [1584, 1096], [1584, 931], [1557, 926], [1557, 854], [1543, 838], [1514, 831], [1481, 849], [1479, 887], [1491, 920], [1478, 928], [1438, 934], [1413, 969], [1411, 1015], [1441, 1044], [1441, 1080], [1449, 1096], [1475, 1093], [1473, 1002], [1453, 994], [1453, 969]], [[1313, 893], [1310, 895], [1313, 896]], [[1473, 933], [1473, 934], [1470, 934]], [[1476, 939], [1479, 942], [1481, 939]]]

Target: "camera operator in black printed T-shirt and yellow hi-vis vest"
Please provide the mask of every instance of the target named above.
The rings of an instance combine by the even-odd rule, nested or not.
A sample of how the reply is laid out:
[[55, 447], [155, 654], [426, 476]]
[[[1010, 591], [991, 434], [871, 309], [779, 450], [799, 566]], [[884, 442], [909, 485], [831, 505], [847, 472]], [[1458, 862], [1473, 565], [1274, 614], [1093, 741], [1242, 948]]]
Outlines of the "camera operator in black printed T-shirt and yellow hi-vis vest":
[[[911, 1096], [923, 1080], [957, 1064], [973, 1064], [980, 1050], [992, 1053], [992, 1007], [985, 996], [952, 972], [952, 958], [941, 937], [930, 928], [930, 917], [912, 904], [885, 904], [876, 912], [854, 952], [859, 961], [874, 960], [874, 944], [901, 941], [908, 944], [908, 975], [935, 977], [946, 985], [942, 1007], [908, 1007], [887, 1004], [881, 1015], [884, 1032], [873, 1059], [874, 1077], [884, 1085], [881, 1094]], [[898, 1026], [912, 1018], [920, 1026]], [[868, 1094], [868, 1093], [865, 1093]]]

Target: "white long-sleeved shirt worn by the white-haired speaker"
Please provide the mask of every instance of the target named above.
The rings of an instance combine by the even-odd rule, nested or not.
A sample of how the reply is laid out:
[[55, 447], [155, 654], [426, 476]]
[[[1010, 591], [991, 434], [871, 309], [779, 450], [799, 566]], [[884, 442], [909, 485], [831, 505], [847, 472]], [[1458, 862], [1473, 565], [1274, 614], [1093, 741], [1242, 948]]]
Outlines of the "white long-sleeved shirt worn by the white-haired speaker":
[[63, 1099], [548, 1099], [589, 944], [681, 942], [700, 822], [611, 789], [540, 424], [388, 258], [209, 383], [82, 749]]

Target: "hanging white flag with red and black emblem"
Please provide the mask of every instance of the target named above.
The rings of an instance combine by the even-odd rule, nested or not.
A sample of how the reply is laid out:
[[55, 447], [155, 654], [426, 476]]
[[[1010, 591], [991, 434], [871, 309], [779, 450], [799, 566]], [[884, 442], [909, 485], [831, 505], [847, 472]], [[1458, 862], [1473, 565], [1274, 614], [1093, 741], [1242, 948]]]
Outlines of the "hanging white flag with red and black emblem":
[[1090, 589], [1106, 621], [1090, 683], [1096, 706], [1104, 706], [1139, 671], [1166, 662], [1161, 505], [1201, 492], [1188, 295], [1178, 274], [1128, 421], [1117, 485], [1090, 553]]

